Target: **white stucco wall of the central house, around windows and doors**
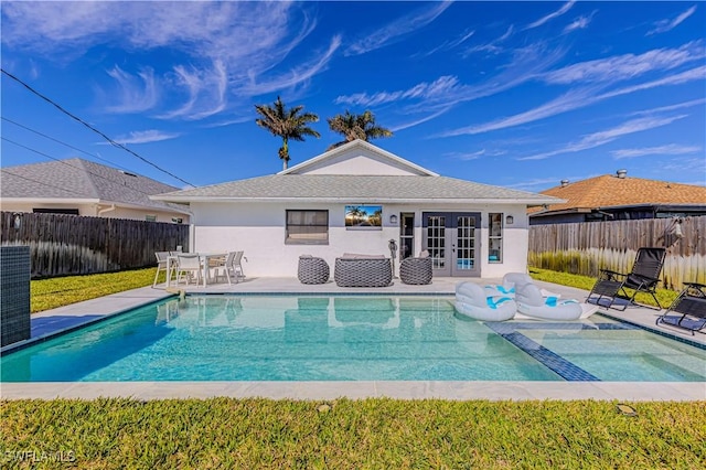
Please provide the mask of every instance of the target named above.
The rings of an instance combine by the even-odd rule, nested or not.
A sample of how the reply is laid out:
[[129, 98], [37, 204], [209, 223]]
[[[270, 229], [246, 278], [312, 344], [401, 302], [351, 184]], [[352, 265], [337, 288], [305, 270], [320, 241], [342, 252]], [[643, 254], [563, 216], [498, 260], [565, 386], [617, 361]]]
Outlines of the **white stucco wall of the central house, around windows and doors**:
[[[389, 215], [400, 212], [415, 213], [415, 255], [421, 249], [422, 212], [480, 212], [480, 253], [482, 277], [502, 277], [506, 273], [525, 273], [527, 268], [527, 217], [522, 204], [440, 206], [383, 205], [383, 229], [351, 231], [344, 226], [344, 204], [311, 203], [192, 203], [193, 252], [244, 250], [247, 261], [245, 274], [253, 277], [295, 277], [299, 256], [310, 254], [322, 257], [331, 267], [343, 253], [361, 253], [389, 256], [388, 241], [399, 239], [399, 226], [389, 224]], [[286, 210], [329, 210], [328, 245], [286, 245]], [[488, 213], [502, 212], [513, 215], [514, 223], [505, 227], [503, 235], [503, 263], [488, 261]], [[398, 268], [398, 259], [395, 261]]]

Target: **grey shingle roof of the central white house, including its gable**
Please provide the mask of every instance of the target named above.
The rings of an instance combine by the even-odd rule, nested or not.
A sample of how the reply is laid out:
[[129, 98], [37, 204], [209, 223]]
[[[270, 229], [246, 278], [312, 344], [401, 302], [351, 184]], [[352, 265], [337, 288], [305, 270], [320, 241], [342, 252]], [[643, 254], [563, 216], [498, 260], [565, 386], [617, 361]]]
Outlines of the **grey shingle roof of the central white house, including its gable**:
[[[404, 174], [335, 174], [351, 169], [342, 153], [368, 168], [387, 164]], [[327, 165], [327, 160], [329, 164]], [[306, 171], [311, 171], [309, 174]], [[303, 173], [303, 174], [302, 174]], [[367, 142], [356, 140], [278, 174], [232, 181], [152, 196], [159, 201], [319, 201], [319, 202], [482, 202], [542, 205], [558, 202], [542, 194], [439, 177]]]

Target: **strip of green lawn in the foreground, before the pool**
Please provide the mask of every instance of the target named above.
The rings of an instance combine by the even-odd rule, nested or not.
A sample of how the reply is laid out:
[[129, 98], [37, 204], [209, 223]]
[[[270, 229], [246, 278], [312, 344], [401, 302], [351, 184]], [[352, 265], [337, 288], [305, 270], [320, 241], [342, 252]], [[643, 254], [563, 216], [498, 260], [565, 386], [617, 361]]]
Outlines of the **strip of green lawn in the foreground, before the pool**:
[[706, 403], [438, 399], [3, 402], [18, 455], [82, 469], [700, 469]]

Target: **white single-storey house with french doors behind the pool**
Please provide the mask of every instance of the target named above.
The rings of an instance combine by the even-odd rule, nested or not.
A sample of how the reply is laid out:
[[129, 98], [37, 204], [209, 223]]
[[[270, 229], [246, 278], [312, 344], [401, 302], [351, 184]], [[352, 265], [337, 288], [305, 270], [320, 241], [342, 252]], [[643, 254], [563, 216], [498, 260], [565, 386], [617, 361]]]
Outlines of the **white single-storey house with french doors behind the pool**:
[[[291, 277], [300, 255], [333, 268], [344, 253], [427, 249], [436, 276], [500, 277], [527, 268], [527, 207], [555, 197], [440, 177], [362, 140], [277, 174], [175, 191], [191, 250], [244, 250], [248, 276]], [[398, 267], [398, 266], [397, 266]]]

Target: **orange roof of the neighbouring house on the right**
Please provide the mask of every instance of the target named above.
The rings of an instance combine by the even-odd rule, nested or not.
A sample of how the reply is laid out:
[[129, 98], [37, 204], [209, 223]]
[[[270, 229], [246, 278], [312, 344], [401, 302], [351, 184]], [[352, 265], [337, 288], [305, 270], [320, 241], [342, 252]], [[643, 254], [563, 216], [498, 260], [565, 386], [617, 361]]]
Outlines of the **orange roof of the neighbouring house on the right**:
[[[642, 178], [618, 178], [612, 174], [558, 185], [542, 191], [566, 200], [563, 204], [552, 204], [546, 211], [612, 207], [643, 204], [696, 204], [706, 205], [706, 186], [645, 180]], [[528, 212], [542, 211], [533, 207]]]

